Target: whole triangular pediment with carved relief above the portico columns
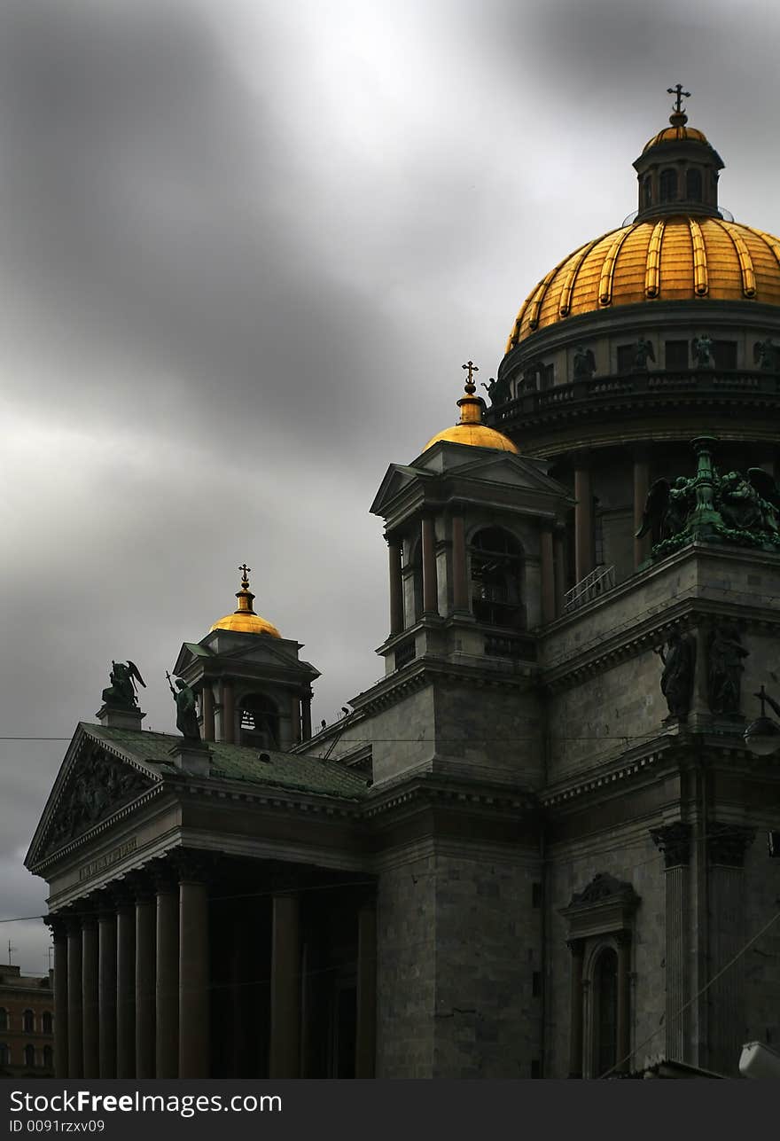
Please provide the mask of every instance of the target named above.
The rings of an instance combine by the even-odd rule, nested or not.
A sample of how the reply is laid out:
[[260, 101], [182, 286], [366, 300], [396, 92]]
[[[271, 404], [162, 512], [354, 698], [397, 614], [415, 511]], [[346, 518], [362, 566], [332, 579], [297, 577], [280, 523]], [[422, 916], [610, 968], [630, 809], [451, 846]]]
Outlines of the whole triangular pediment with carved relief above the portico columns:
[[129, 761], [79, 726], [35, 830], [25, 866], [34, 866], [90, 832], [148, 792], [159, 779], [152, 769]]

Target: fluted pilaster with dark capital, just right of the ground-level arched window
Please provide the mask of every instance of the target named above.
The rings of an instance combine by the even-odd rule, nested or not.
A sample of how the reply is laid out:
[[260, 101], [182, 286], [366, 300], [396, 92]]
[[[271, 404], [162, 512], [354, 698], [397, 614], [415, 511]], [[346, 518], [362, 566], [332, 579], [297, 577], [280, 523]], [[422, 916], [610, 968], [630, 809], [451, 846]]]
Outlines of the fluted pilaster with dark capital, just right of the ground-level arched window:
[[[688, 1061], [691, 1011], [689, 950], [690, 825], [682, 820], [652, 828], [650, 835], [664, 853], [666, 884], [666, 1057]], [[681, 1014], [680, 1011], [683, 1011]]]

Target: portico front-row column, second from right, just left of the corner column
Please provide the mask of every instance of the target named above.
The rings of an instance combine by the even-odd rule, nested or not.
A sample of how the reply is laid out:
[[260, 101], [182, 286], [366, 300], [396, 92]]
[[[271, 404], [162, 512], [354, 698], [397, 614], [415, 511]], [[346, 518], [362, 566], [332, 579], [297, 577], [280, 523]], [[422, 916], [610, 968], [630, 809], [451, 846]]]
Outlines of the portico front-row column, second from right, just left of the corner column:
[[156, 880], [156, 1077], [179, 1076], [179, 893], [166, 866]]

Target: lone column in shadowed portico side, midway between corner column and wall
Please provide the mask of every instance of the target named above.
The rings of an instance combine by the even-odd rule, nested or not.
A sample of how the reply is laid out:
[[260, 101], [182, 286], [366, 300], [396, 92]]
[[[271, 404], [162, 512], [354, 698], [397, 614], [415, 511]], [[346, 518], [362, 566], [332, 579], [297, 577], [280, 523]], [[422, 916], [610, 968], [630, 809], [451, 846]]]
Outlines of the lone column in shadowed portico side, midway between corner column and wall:
[[271, 1078], [299, 1076], [301, 1029], [299, 911], [298, 896], [274, 896], [268, 1073]]

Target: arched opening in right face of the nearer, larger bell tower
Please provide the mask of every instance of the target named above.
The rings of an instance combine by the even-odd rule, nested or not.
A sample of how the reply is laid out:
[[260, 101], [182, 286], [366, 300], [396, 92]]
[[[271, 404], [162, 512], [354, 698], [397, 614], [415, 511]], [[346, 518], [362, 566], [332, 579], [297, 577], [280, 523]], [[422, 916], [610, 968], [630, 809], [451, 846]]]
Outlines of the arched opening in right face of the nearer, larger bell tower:
[[522, 557], [517, 539], [501, 527], [486, 527], [472, 537], [469, 555], [471, 605], [477, 621], [522, 628]]

